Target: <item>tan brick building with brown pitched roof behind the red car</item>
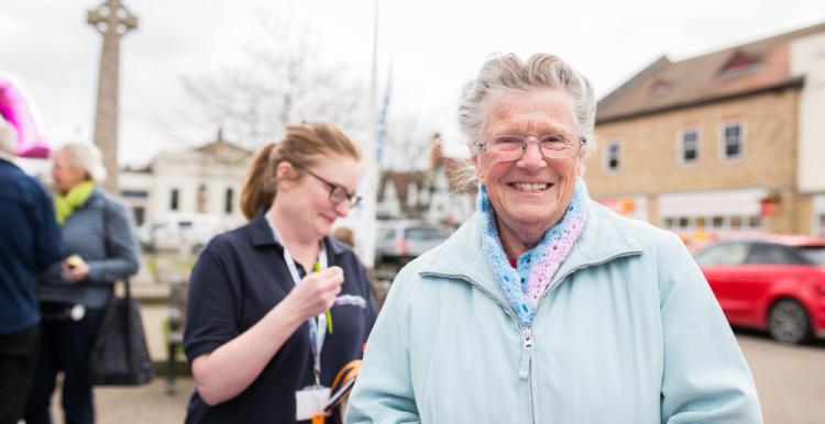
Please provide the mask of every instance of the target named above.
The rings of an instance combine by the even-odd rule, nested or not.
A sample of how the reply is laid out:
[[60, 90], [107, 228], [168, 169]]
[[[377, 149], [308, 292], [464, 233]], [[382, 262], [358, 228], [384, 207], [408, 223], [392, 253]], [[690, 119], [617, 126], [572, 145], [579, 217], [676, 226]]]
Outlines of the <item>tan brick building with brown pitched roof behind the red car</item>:
[[825, 235], [825, 24], [681, 62], [598, 102], [591, 196], [686, 238]]

